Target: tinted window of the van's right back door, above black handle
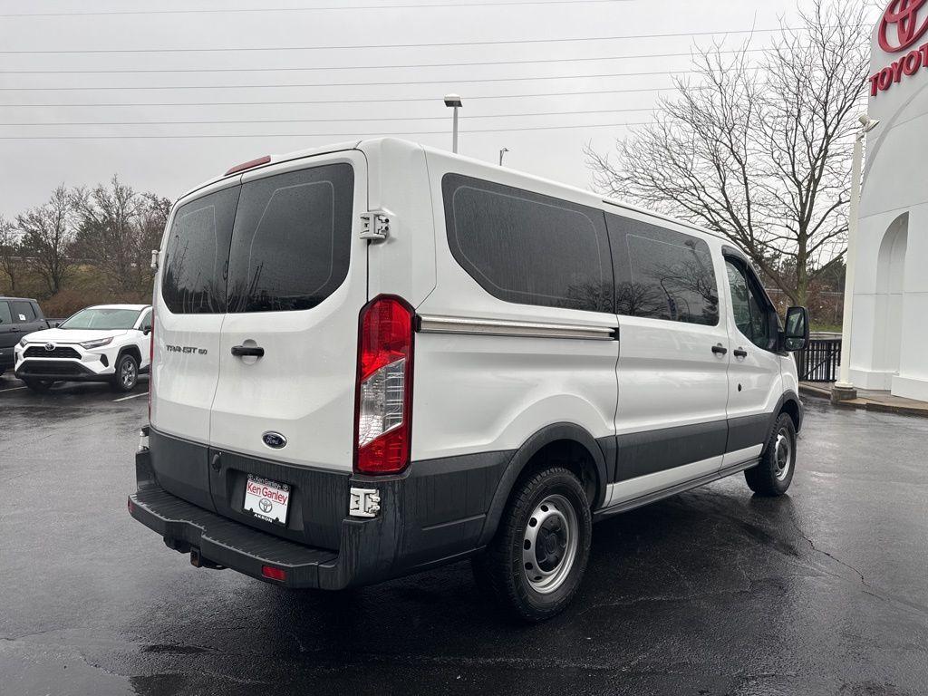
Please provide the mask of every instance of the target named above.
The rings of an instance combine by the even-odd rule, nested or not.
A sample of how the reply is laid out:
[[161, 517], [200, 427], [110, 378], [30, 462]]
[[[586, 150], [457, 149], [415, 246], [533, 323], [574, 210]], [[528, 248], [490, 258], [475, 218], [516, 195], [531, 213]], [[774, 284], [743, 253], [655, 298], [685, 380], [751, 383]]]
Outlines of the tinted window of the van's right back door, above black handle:
[[229, 259], [228, 311], [310, 309], [348, 276], [354, 170], [329, 164], [245, 184]]

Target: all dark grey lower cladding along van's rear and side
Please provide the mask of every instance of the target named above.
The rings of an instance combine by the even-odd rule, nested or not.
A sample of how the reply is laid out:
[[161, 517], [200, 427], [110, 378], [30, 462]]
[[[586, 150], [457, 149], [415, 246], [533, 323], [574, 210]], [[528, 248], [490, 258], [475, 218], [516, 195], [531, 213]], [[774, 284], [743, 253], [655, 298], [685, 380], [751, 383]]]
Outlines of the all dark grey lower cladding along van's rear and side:
[[[589, 446], [598, 447], [603, 460], [600, 483], [614, 483], [766, 442], [775, 418], [776, 412], [590, 439]], [[537, 448], [566, 436], [562, 428], [548, 430]], [[413, 462], [402, 474], [369, 477], [247, 457], [154, 429], [148, 437], [149, 448], [135, 457], [138, 491], [129, 509], [136, 520], [169, 547], [196, 548], [214, 564], [261, 579], [262, 566], [272, 565], [288, 571], [287, 586], [324, 589], [368, 585], [479, 551], [494, 535], [509, 491], [532, 456], [526, 445]], [[249, 474], [290, 485], [285, 526], [242, 509]], [[709, 480], [681, 482], [651, 497]], [[377, 489], [377, 517], [349, 516], [352, 487]], [[597, 519], [626, 508], [598, 510]]]

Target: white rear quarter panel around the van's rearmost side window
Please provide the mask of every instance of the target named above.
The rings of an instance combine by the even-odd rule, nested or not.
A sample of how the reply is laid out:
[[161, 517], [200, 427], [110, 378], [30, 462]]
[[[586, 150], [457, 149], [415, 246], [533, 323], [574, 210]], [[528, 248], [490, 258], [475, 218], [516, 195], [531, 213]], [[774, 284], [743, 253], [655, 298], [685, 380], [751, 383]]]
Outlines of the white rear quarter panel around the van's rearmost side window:
[[[483, 163], [427, 151], [432, 191], [435, 290], [416, 307], [430, 317], [490, 320], [599, 329], [608, 334], [615, 316], [497, 299], [452, 255], [445, 227], [445, 174], [489, 179]], [[593, 208], [592, 196], [533, 177], [494, 170], [492, 182]], [[599, 334], [602, 338], [602, 334]], [[554, 423], [574, 423], [594, 438], [611, 438], [616, 405], [618, 342], [470, 331], [416, 335], [413, 460], [514, 451]]]

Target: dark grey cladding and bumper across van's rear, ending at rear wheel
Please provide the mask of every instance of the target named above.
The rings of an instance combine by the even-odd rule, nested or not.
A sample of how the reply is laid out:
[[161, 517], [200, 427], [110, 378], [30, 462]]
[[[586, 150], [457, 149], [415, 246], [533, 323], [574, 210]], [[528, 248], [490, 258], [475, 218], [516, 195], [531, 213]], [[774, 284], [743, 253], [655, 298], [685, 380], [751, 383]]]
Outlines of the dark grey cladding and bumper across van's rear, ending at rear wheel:
[[[259, 579], [340, 589], [414, 573], [479, 548], [486, 513], [511, 452], [414, 462], [397, 476], [365, 477], [216, 452], [149, 431], [135, 456], [133, 517], [180, 551]], [[218, 455], [218, 459], [217, 459]], [[291, 486], [286, 527], [243, 512], [249, 473]], [[348, 515], [352, 487], [376, 488], [380, 512]]]

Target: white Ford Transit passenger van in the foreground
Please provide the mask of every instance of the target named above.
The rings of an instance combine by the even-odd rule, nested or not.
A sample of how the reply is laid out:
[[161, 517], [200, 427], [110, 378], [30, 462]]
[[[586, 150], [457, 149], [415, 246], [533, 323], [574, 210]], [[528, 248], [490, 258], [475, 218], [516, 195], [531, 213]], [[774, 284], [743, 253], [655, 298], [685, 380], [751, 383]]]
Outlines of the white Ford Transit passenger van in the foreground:
[[128, 507], [195, 566], [339, 589], [470, 558], [538, 621], [592, 522], [793, 477], [806, 311], [782, 329], [697, 227], [380, 139], [233, 168], [157, 259]]

